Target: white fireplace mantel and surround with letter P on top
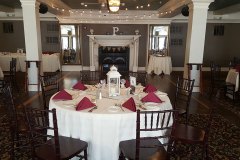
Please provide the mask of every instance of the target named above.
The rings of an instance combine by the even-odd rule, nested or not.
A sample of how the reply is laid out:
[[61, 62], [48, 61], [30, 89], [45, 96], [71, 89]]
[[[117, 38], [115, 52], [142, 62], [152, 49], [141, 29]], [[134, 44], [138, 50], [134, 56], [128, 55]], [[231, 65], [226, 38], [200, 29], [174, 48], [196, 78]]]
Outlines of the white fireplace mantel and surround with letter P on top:
[[95, 71], [99, 67], [99, 46], [129, 46], [130, 60], [129, 70], [137, 72], [139, 37], [141, 35], [88, 35], [90, 52], [90, 70]]

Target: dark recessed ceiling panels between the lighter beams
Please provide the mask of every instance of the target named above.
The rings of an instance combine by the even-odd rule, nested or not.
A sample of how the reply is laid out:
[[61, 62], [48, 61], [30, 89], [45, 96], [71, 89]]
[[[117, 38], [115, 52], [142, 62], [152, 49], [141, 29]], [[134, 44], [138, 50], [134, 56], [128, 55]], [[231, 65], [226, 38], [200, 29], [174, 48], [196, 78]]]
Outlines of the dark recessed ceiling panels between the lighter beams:
[[[106, 0], [61, 0], [71, 9], [101, 9], [101, 1]], [[121, 10], [157, 10], [168, 0], [121, 0]], [[84, 5], [83, 5], [84, 4]], [[87, 7], [85, 6], [87, 5]], [[231, 5], [240, 4], [240, 0], [215, 0], [209, 6], [209, 10], [215, 11]], [[9, 8], [21, 8], [19, 0], [0, 0], [0, 5]], [[137, 8], [138, 6], [138, 8]]]

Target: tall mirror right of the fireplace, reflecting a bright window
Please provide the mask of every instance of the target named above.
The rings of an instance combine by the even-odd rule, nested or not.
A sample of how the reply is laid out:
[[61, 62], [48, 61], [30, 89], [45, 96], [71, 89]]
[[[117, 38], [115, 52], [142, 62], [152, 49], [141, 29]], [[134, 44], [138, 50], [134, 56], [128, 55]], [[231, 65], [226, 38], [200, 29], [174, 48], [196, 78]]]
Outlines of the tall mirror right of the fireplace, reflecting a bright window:
[[169, 26], [150, 26], [150, 50], [159, 52], [168, 49]]

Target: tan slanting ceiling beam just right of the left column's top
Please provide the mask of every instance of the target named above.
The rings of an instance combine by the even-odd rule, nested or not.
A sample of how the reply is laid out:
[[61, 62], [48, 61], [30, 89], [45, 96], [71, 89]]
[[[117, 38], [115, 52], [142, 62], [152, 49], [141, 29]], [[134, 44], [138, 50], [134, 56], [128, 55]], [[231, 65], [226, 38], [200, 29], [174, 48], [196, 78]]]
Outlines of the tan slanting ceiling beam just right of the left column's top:
[[58, 0], [38, 0], [40, 3], [44, 3], [48, 6], [48, 11], [57, 16], [70, 16], [71, 8]]

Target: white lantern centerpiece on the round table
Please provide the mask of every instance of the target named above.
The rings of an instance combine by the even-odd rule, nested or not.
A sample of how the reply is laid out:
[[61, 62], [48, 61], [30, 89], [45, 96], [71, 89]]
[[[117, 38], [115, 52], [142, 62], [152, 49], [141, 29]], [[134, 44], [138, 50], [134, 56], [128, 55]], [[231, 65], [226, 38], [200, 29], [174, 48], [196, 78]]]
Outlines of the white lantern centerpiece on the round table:
[[113, 65], [110, 68], [110, 71], [107, 73], [109, 97], [120, 95], [120, 77], [121, 74], [117, 71], [117, 68]]

